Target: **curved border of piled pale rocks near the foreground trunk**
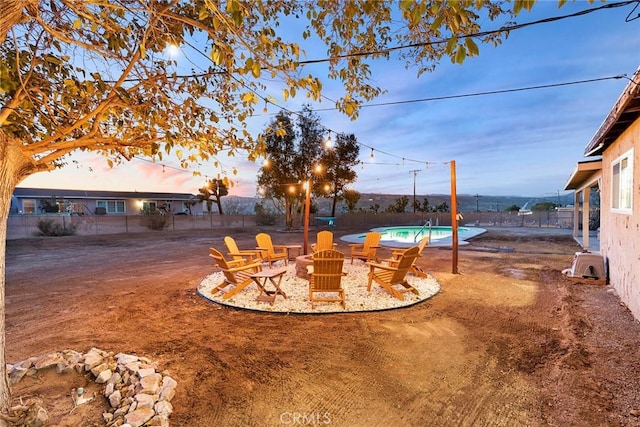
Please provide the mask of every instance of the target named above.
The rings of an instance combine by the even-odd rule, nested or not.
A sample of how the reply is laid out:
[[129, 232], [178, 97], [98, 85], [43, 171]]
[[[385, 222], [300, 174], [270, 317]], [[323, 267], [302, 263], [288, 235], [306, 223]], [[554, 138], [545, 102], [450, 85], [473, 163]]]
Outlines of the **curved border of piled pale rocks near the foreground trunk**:
[[[108, 427], [169, 426], [178, 383], [158, 372], [157, 365], [146, 357], [114, 355], [97, 348], [85, 354], [63, 350], [7, 364], [7, 375], [11, 384], [17, 384], [25, 375], [53, 367], [58, 374], [91, 372], [97, 384], [105, 385], [102, 394], [111, 410], [102, 416]], [[77, 403], [82, 396], [73, 398]]]

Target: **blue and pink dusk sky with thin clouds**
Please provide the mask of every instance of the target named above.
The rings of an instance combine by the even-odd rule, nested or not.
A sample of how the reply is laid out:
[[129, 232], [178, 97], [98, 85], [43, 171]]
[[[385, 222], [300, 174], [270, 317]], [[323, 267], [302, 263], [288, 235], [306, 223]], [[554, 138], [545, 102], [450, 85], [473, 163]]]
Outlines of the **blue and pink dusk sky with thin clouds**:
[[[556, 1], [541, 1], [516, 20], [532, 22], [602, 5], [578, 1], [558, 8]], [[455, 160], [460, 194], [564, 194], [585, 146], [640, 65], [640, 7], [634, 6], [517, 29], [498, 47], [479, 45], [479, 57], [462, 65], [445, 58], [435, 72], [421, 77], [393, 56], [377, 61], [373, 78], [387, 93], [362, 108], [356, 121], [335, 110], [322, 111], [333, 106], [326, 100], [312, 108], [321, 110], [323, 126], [335, 133], [353, 133], [362, 144], [362, 164], [352, 185], [361, 193], [409, 195], [415, 179], [417, 194], [448, 194], [450, 161]], [[487, 20], [483, 30], [498, 27]], [[323, 53], [308, 51], [307, 59], [324, 58]], [[182, 52], [185, 68], [192, 67], [190, 55]], [[317, 68], [304, 71], [320, 74]], [[610, 78], [622, 75], [626, 78]], [[598, 81], [569, 84], [584, 80]], [[340, 96], [335, 82], [323, 83], [327, 98]], [[536, 86], [553, 87], [462, 96]], [[279, 98], [279, 93], [274, 88], [274, 93], [263, 95]], [[460, 97], [429, 100], [455, 96]], [[378, 105], [416, 100], [425, 101]], [[297, 110], [305, 101], [281, 105]], [[276, 112], [271, 106], [269, 114], [263, 114], [259, 106], [249, 119], [251, 131], [263, 131]], [[230, 176], [235, 181], [230, 195], [254, 196], [261, 166], [222, 153], [221, 169], [210, 165], [201, 169], [203, 176], [194, 177], [172, 159], [134, 159], [113, 169], [97, 155], [73, 159], [77, 165], [38, 173], [20, 186], [197, 193], [205, 178], [231, 174], [236, 167], [239, 174]]]

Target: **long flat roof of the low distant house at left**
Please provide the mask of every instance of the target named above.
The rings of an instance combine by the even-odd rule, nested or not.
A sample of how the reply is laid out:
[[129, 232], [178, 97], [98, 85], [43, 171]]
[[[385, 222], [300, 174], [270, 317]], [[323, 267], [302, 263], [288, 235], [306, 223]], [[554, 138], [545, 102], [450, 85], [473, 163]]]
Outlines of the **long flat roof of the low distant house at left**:
[[16, 187], [15, 197], [57, 197], [61, 199], [151, 199], [151, 200], [190, 200], [196, 196], [189, 193], [149, 193], [137, 191], [101, 191], [101, 190], [65, 190], [59, 188]]

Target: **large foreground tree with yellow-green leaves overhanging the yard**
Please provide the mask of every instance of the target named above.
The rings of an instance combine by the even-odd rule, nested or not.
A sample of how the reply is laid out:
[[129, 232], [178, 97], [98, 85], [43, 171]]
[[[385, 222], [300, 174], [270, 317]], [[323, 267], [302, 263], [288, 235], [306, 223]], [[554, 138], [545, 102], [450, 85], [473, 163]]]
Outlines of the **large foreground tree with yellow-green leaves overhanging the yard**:
[[[221, 151], [249, 160], [265, 145], [245, 119], [262, 96], [264, 78], [282, 83], [282, 98], [320, 99], [319, 76], [304, 73], [301, 47], [278, 31], [307, 19], [298, 40], [327, 47], [329, 79], [344, 88], [335, 106], [356, 118], [372, 85], [370, 62], [387, 48], [418, 75], [443, 57], [462, 63], [479, 54], [480, 22], [513, 10], [499, 0], [434, 2], [164, 2], [121, 0], [3, 0], [0, 2], [0, 221], [6, 224], [14, 188], [27, 176], [63, 167], [74, 151], [95, 151], [109, 164], [134, 156], [175, 154], [186, 167]], [[498, 44], [506, 32], [478, 36]], [[436, 42], [434, 42], [436, 41]], [[442, 42], [438, 42], [442, 41]], [[182, 75], [163, 51], [194, 46], [210, 65]], [[364, 52], [370, 52], [364, 54]], [[394, 52], [398, 52], [394, 50]], [[235, 172], [235, 171], [234, 171]], [[6, 240], [6, 227], [0, 227]], [[4, 366], [5, 245], [0, 249], [0, 366]], [[0, 411], [10, 390], [0, 376]], [[0, 421], [1, 423], [2, 421]]]

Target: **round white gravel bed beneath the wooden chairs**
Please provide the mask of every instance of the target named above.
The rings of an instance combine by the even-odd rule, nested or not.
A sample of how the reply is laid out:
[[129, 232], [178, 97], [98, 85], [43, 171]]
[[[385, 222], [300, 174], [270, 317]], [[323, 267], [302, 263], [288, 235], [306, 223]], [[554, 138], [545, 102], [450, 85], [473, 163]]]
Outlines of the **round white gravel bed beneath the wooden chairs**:
[[[274, 266], [274, 268], [281, 267], [283, 267], [282, 263], [277, 263]], [[210, 274], [202, 279], [198, 285], [198, 293], [218, 304], [250, 310], [274, 313], [344, 313], [406, 307], [431, 298], [440, 291], [440, 284], [433, 276], [429, 275], [423, 279], [408, 274], [407, 281], [418, 290], [419, 295], [405, 293], [404, 300], [401, 301], [391, 296], [375, 282], [371, 286], [371, 292], [367, 292], [369, 267], [363, 262], [355, 261], [353, 265], [345, 262], [344, 271], [347, 272], [347, 275], [342, 279], [346, 293], [346, 309], [343, 309], [339, 302], [316, 302], [315, 308], [312, 309], [309, 301], [309, 282], [296, 276], [295, 262], [289, 263], [280, 284], [280, 289], [287, 294], [287, 298], [278, 295], [273, 305], [268, 302], [256, 301], [259, 292], [255, 284], [247, 286], [228, 300], [222, 299], [221, 292], [212, 294], [211, 290], [223, 280], [221, 272]], [[267, 289], [272, 289], [271, 284]]]

